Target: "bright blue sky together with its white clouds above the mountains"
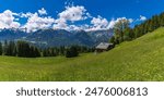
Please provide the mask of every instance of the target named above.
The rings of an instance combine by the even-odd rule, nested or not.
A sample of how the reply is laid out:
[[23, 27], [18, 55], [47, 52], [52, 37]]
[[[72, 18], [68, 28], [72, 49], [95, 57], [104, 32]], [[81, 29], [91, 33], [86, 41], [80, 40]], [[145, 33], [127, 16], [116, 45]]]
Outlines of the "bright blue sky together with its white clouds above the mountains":
[[[81, 16], [79, 16], [80, 12], [78, 11], [78, 16], [74, 16], [74, 18], [63, 16], [66, 13], [62, 12], [66, 11], [66, 7], [69, 7], [67, 8], [68, 13], [71, 12], [73, 15], [74, 12], [72, 10], [80, 10], [82, 13]], [[74, 9], [71, 9], [72, 7]], [[45, 14], [38, 13], [38, 10], [42, 9], [46, 11]], [[10, 12], [5, 12], [7, 10]], [[40, 28], [70, 28], [69, 25], [71, 25], [73, 28], [82, 28], [83, 26], [89, 28], [90, 26], [99, 29], [109, 27], [108, 24], [114, 24], [117, 22], [117, 18], [131, 20], [134, 24], [163, 11], [164, 0], [0, 0], [0, 13], [10, 13], [14, 17], [10, 17], [10, 20], [9, 20], [10, 23], [8, 20], [4, 23], [0, 20], [0, 28], [16, 25], [16, 27], [28, 27], [31, 28], [30, 30], [35, 30], [34, 28], [39, 28], [42, 25], [37, 26], [34, 24], [49, 23], [48, 25], [43, 25]], [[30, 16], [21, 17], [21, 13], [27, 14], [27, 12], [31, 12]], [[60, 15], [60, 13], [62, 14]], [[35, 18], [37, 22], [33, 21]], [[12, 22], [14, 23], [11, 24]], [[34, 23], [31, 24], [32, 22]], [[7, 24], [10, 24], [10, 26]]]

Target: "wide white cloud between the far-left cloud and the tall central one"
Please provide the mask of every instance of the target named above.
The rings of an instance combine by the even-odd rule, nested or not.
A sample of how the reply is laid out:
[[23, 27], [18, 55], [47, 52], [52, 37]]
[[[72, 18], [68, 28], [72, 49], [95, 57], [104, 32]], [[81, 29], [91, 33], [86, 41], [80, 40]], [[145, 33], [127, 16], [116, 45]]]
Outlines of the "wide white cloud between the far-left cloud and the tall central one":
[[27, 23], [22, 27], [26, 27], [27, 33], [30, 33], [35, 32], [37, 29], [49, 28], [54, 23], [55, 20], [52, 17], [40, 17], [37, 13], [34, 13], [28, 17]]

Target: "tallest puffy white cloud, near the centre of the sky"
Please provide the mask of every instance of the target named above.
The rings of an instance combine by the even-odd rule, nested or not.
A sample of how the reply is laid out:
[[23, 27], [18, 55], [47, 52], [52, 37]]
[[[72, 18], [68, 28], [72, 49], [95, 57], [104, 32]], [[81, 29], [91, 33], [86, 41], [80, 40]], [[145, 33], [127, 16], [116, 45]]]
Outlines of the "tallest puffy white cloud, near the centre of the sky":
[[75, 25], [68, 25], [68, 21], [74, 23], [78, 21], [83, 21], [86, 20], [90, 13], [86, 12], [84, 7], [80, 5], [71, 5], [71, 7], [66, 7], [66, 10], [62, 11], [61, 13], [58, 14], [58, 20], [55, 21], [54, 28], [61, 28], [61, 29], [79, 29], [80, 27]]

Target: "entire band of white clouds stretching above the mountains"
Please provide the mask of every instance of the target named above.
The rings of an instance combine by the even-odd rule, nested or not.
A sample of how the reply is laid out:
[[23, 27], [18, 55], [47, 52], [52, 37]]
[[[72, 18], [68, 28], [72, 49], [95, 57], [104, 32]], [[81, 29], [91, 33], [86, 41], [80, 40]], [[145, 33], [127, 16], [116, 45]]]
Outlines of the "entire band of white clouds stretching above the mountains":
[[[55, 20], [47, 15], [47, 11], [42, 8], [36, 12], [26, 13], [14, 13], [7, 10], [0, 13], [0, 28], [27, 28], [27, 32], [35, 32], [43, 28], [55, 28], [55, 29], [67, 29], [67, 30], [102, 30], [113, 28], [114, 25], [120, 20], [128, 20], [130, 23], [133, 22], [132, 18], [118, 17], [107, 21], [106, 18], [98, 15], [97, 17], [92, 16], [86, 9], [82, 5], [69, 5], [61, 13], [58, 13], [58, 18]], [[19, 23], [21, 18], [27, 20], [25, 24]], [[91, 23], [79, 25], [77, 22], [82, 22], [85, 20], [91, 20]], [[147, 17], [140, 15], [138, 21], [145, 21]], [[137, 21], [137, 20], [136, 20]]]

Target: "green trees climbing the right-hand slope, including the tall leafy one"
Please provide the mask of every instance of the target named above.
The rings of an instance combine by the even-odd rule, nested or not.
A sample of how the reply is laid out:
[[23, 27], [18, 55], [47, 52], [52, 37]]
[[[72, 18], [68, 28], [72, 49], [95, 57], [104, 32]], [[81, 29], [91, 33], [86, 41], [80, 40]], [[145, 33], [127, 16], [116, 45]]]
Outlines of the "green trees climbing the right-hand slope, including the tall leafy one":
[[114, 36], [109, 39], [109, 42], [118, 45], [122, 41], [133, 40], [163, 26], [164, 13], [153, 15], [133, 28], [130, 27], [128, 20], [119, 20], [114, 26]]

